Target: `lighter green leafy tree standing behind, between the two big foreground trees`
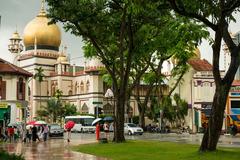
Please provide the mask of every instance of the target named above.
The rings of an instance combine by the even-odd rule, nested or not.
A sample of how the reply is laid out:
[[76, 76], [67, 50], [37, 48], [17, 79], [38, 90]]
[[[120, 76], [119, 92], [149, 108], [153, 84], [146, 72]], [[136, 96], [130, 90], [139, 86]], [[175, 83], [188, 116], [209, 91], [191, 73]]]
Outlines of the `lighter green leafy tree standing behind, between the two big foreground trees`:
[[[133, 91], [134, 87], [136, 89], [135, 99], [138, 102], [139, 122], [142, 127], [145, 124], [144, 115], [150, 96], [154, 92], [155, 96], [158, 96], [159, 103], [161, 103], [163, 97], [162, 85], [167, 80], [167, 77], [162, 74], [163, 63], [170, 59], [176, 62], [171, 73], [171, 78], [176, 79], [176, 81], [169, 91], [168, 96], [170, 97], [188, 70], [187, 61], [194, 56], [193, 51], [196, 45], [200, 43], [203, 37], [206, 38], [209, 35], [205, 27], [195, 21], [174, 15], [165, 15], [164, 17], [168, 19], [167, 22], [161, 26], [154, 26], [154, 24], [151, 26], [151, 30], [160, 30], [157, 33], [151, 32], [151, 42], [156, 46], [148, 43], [147, 45], [150, 45], [152, 50], [146, 56], [140, 57], [141, 61], [133, 62], [134, 65], [131, 69], [130, 75], [133, 84], [130, 90]], [[145, 89], [146, 95], [144, 95], [144, 98], [139, 95], [140, 84], [143, 82], [148, 86]]]

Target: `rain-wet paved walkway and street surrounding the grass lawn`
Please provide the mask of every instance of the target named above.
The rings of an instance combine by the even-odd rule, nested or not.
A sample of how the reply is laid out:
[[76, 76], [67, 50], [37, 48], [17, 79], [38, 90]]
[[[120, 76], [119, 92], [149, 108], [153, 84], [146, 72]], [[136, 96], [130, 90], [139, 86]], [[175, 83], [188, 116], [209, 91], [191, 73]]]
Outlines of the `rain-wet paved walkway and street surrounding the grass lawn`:
[[[142, 136], [126, 135], [125, 138], [132, 140], [155, 140], [200, 144], [202, 136], [202, 134], [144, 133]], [[113, 135], [110, 134], [110, 139], [112, 139], [112, 137]], [[74, 133], [72, 134], [70, 143], [67, 142], [66, 138], [52, 138], [47, 142], [2, 143], [0, 144], [0, 149], [4, 149], [9, 153], [22, 154], [26, 160], [107, 160], [106, 158], [71, 151], [72, 146], [96, 142], [95, 134]], [[240, 135], [234, 137], [231, 135], [223, 135], [220, 137], [218, 146], [240, 147]]]

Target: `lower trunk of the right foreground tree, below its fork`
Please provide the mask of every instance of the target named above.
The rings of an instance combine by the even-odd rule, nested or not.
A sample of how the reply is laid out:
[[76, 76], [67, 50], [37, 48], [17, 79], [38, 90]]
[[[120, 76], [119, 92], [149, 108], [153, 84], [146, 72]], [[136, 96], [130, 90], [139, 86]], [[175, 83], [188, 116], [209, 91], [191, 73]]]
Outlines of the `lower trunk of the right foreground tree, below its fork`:
[[200, 151], [214, 151], [222, 131], [226, 99], [231, 84], [219, 86], [213, 99], [212, 113], [209, 118], [207, 130], [204, 133]]

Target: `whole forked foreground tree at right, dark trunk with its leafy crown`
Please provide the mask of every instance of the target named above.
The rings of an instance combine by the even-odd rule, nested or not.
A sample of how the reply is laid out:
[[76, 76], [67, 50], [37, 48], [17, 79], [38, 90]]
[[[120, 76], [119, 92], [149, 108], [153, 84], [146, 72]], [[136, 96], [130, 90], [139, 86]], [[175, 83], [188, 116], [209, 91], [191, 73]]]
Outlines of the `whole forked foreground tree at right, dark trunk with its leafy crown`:
[[[228, 31], [229, 23], [234, 21], [233, 13], [239, 10], [240, 1], [168, 0], [168, 2], [176, 13], [198, 20], [199, 23], [205, 24], [215, 32], [214, 40], [211, 43], [213, 50], [213, 76], [216, 89], [209, 125], [199, 148], [200, 151], [214, 151], [221, 134], [228, 92], [240, 64], [240, 46], [233, 42]], [[221, 77], [219, 70], [222, 40], [224, 40], [231, 53], [230, 66], [224, 77]]]

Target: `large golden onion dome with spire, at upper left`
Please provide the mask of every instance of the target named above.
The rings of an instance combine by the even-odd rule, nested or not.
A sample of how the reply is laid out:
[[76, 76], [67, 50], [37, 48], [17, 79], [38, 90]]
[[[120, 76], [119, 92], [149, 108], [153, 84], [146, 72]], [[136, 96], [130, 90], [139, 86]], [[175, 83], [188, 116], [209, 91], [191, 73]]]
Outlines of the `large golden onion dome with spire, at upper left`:
[[40, 46], [58, 47], [61, 44], [61, 32], [56, 24], [48, 25], [50, 20], [42, 7], [40, 13], [30, 21], [24, 29], [23, 43], [25, 47]]

